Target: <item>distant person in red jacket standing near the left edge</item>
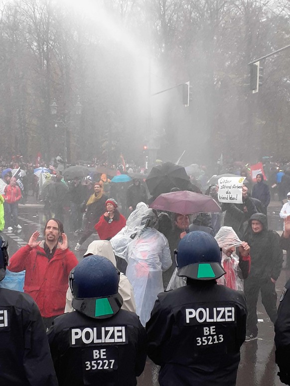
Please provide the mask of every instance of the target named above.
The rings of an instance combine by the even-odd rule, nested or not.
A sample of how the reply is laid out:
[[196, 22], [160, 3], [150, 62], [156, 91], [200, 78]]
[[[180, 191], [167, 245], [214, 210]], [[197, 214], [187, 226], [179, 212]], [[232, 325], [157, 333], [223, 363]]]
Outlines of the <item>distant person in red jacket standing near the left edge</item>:
[[[18, 185], [16, 185], [15, 177], [12, 177], [10, 184], [4, 188], [4, 213], [5, 213], [5, 224], [8, 230], [13, 230], [12, 225], [16, 229], [22, 229], [21, 225], [18, 224], [18, 201], [21, 199], [21, 191]], [[11, 219], [13, 215], [13, 222]]]

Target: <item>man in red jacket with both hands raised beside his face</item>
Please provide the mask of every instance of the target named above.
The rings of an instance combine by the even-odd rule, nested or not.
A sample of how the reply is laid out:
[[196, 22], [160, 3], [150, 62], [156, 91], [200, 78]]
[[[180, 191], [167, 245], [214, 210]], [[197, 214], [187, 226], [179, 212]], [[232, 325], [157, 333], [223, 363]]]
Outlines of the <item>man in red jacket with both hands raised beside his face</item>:
[[8, 268], [12, 272], [26, 271], [24, 292], [35, 300], [45, 327], [49, 328], [52, 320], [64, 312], [69, 273], [78, 260], [68, 249], [63, 225], [56, 218], [45, 224], [45, 240], [37, 241], [39, 235], [34, 232], [28, 245], [14, 253]]

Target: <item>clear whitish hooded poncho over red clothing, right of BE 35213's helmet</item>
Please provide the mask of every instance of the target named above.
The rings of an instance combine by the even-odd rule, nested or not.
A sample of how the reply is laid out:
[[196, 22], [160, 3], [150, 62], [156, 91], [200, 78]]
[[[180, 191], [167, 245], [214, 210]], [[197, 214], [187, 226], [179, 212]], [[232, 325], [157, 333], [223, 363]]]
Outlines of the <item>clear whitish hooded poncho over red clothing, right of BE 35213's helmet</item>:
[[222, 266], [226, 274], [217, 280], [218, 284], [229, 287], [233, 290], [244, 290], [244, 281], [241, 269], [239, 267], [239, 258], [233, 253], [230, 257], [226, 251], [231, 247], [239, 247], [242, 241], [237, 236], [231, 226], [222, 226], [215, 239], [220, 248], [222, 248]]

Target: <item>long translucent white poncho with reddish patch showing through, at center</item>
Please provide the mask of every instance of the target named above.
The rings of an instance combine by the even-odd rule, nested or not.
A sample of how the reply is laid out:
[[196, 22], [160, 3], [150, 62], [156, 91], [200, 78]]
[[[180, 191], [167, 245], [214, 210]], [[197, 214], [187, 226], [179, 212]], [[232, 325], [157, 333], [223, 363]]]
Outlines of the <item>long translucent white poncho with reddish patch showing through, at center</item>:
[[172, 264], [168, 241], [153, 228], [139, 231], [127, 248], [126, 276], [133, 286], [136, 313], [145, 326], [157, 299], [163, 292], [162, 271]]

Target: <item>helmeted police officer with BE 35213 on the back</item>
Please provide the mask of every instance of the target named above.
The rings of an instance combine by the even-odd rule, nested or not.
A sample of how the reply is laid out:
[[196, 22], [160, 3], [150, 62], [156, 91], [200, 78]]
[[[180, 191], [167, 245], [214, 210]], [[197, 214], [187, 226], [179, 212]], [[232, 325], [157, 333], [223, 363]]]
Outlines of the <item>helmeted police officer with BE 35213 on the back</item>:
[[160, 293], [146, 324], [149, 358], [160, 365], [160, 386], [234, 386], [246, 337], [242, 292], [217, 285], [225, 274], [209, 233], [188, 233], [178, 244], [178, 276], [187, 285]]

